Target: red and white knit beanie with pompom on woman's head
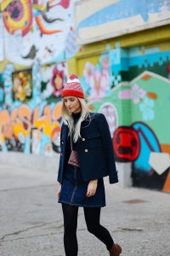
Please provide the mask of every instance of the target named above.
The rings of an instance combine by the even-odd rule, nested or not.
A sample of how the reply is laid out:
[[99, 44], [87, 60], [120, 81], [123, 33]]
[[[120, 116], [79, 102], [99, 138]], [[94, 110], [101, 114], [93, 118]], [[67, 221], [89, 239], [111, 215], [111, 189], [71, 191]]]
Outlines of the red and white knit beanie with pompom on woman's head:
[[70, 79], [65, 84], [65, 88], [62, 93], [62, 97], [64, 96], [75, 96], [84, 99], [82, 86], [76, 74], [71, 74]]

